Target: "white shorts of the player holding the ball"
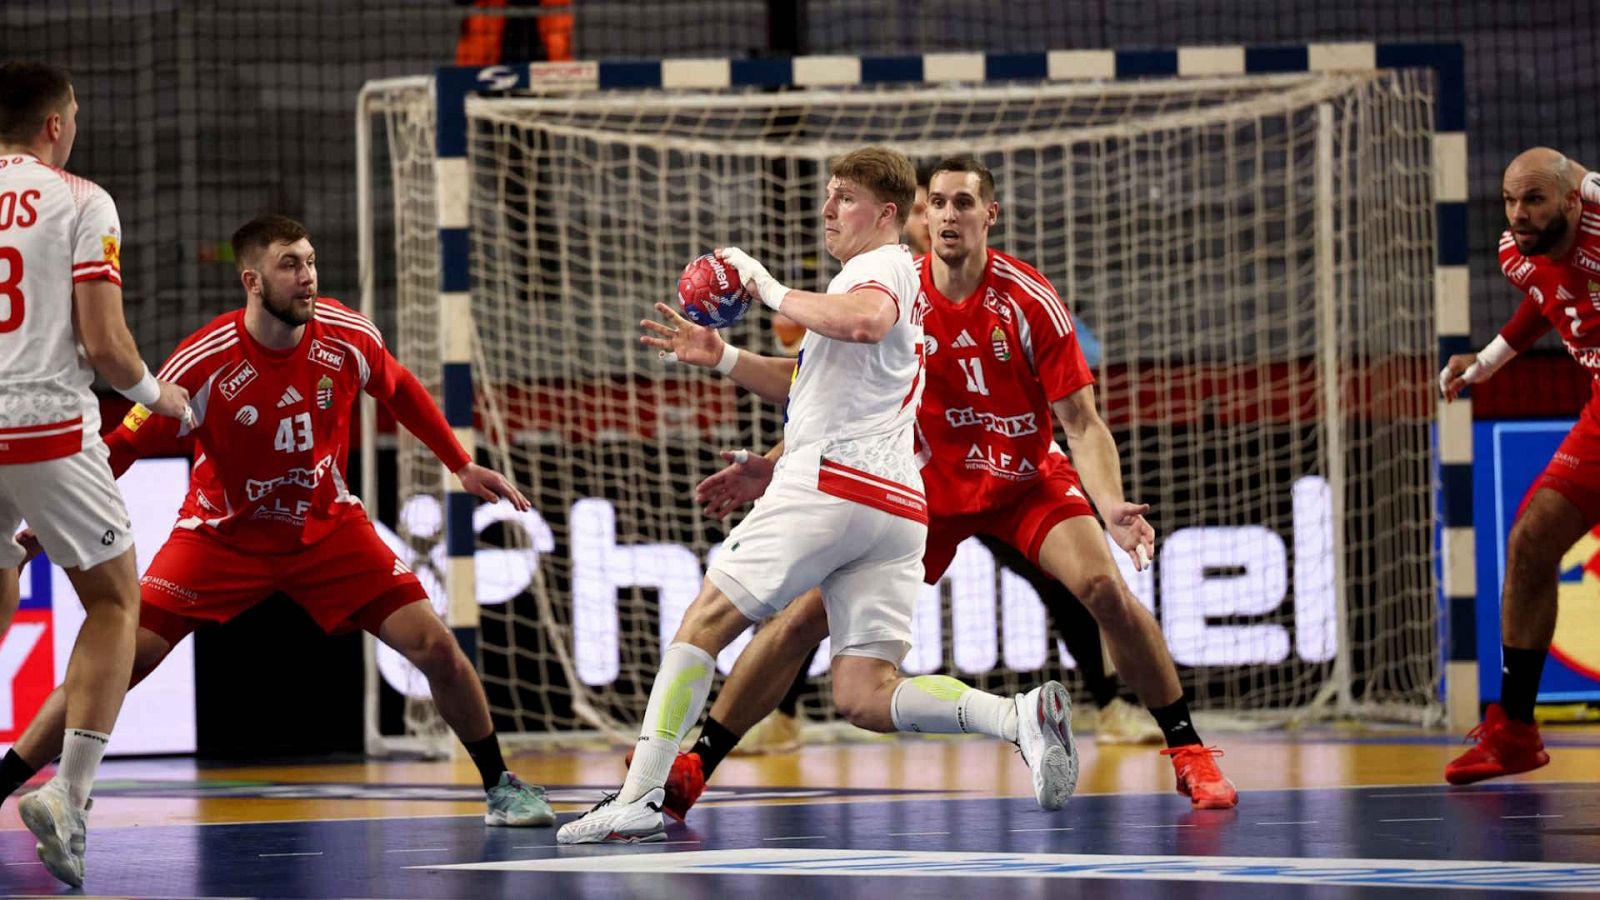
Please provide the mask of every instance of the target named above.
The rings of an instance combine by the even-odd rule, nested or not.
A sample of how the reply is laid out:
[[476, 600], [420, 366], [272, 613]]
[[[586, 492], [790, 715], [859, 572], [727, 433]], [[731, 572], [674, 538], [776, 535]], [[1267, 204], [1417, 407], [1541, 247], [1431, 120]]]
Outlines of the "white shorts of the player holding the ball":
[[750, 621], [821, 586], [835, 657], [882, 642], [909, 649], [926, 541], [922, 522], [774, 479], [706, 577]]

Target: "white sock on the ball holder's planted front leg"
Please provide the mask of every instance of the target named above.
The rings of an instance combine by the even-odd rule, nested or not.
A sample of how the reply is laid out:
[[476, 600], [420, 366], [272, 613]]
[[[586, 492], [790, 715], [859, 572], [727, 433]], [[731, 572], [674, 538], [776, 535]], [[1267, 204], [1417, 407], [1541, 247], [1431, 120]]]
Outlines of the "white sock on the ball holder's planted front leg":
[[699, 721], [715, 676], [717, 660], [693, 644], [672, 644], [661, 655], [661, 673], [650, 685], [645, 724], [634, 745], [634, 764], [618, 796], [621, 802], [634, 802], [667, 783], [683, 732]]

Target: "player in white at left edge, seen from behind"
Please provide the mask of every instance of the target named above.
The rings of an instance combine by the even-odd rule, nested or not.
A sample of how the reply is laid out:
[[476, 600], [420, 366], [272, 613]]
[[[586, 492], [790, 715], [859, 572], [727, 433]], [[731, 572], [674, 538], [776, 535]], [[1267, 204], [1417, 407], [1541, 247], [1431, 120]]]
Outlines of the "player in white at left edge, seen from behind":
[[61, 769], [18, 806], [45, 868], [74, 887], [139, 621], [133, 532], [90, 386], [99, 372], [157, 413], [189, 408], [189, 392], [150, 375], [128, 333], [117, 205], [61, 168], [77, 114], [62, 69], [0, 64], [0, 620], [10, 623], [21, 597], [26, 554], [11, 535], [26, 519], [85, 612], [67, 663]]

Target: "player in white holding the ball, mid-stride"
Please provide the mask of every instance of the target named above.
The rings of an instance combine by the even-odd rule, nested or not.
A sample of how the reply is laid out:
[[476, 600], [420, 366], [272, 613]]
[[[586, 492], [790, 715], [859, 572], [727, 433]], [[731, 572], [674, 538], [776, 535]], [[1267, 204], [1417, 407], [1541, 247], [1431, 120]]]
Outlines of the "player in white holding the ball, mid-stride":
[[[666, 839], [662, 785], [683, 732], [706, 706], [715, 655], [814, 585], [827, 609], [834, 703], [851, 724], [1016, 741], [1045, 809], [1059, 809], [1077, 785], [1058, 682], [1003, 698], [944, 676], [899, 674], [928, 536], [914, 448], [926, 306], [910, 251], [899, 243], [917, 173], [902, 154], [867, 147], [834, 160], [830, 175], [824, 242], [843, 269], [827, 293], [790, 290], [744, 251], [718, 251], [752, 295], [808, 333], [798, 359], [728, 346], [722, 360], [682, 362], [715, 362], [749, 391], [786, 402], [787, 450], [662, 653], [621, 791], [562, 826], [562, 844]], [[672, 351], [672, 327], [654, 325], [661, 335], [645, 343]]]

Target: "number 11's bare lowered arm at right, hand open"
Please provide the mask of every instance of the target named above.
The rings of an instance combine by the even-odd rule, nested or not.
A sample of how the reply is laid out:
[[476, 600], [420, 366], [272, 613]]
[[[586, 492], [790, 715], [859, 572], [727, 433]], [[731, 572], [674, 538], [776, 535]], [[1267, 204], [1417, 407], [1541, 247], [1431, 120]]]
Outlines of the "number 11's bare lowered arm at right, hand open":
[[1128, 551], [1134, 569], [1144, 569], [1155, 552], [1155, 528], [1144, 520], [1150, 504], [1128, 503], [1122, 493], [1122, 455], [1094, 405], [1094, 386], [1085, 384], [1050, 408], [1067, 432], [1072, 464], [1083, 476], [1083, 490], [1090, 493], [1101, 519], [1106, 520], [1106, 530], [1117, 546]]

